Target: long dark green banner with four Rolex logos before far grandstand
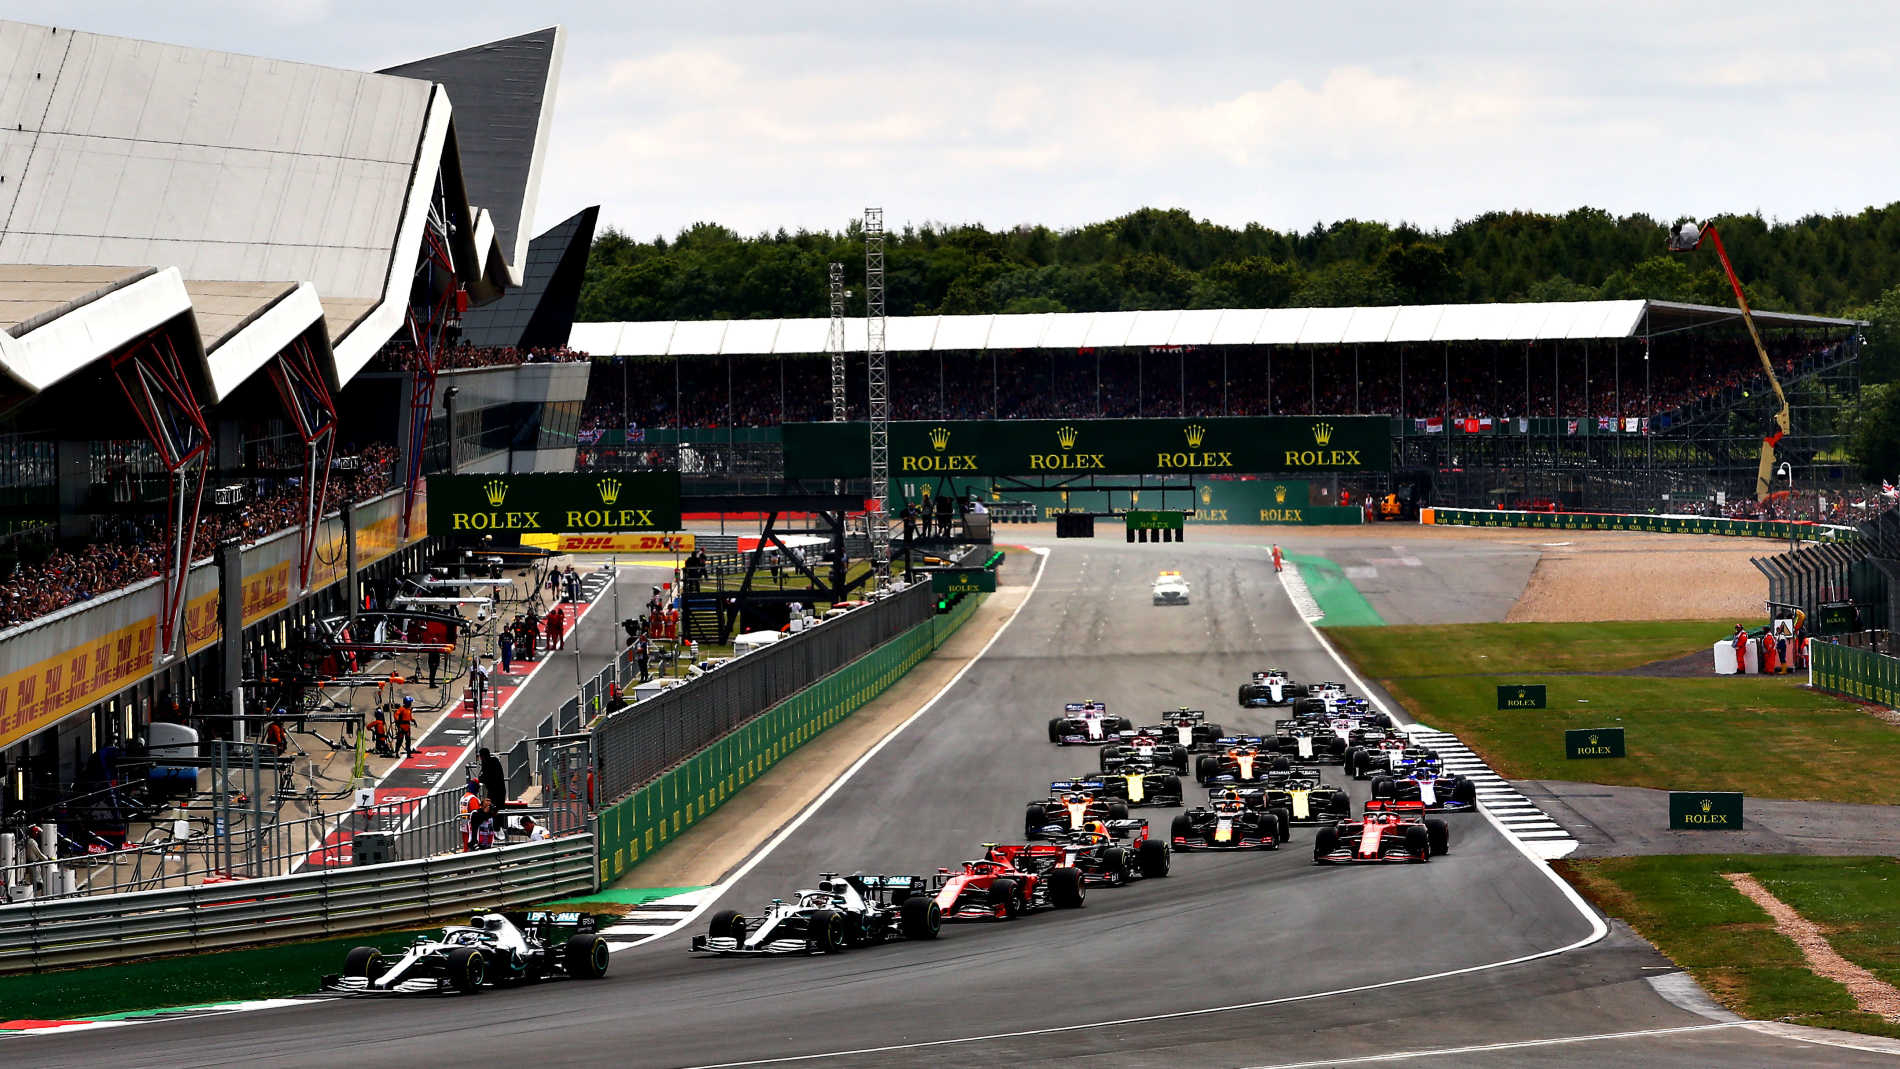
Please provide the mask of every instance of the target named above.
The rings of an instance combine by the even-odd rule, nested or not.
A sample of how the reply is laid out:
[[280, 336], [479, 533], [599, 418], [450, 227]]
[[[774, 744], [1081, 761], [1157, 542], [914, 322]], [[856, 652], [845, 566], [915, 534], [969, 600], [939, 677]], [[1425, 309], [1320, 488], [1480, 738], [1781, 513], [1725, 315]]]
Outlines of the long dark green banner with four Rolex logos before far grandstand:
[[[891, 478], [1391, 471], [1385, 416], [912, 420], [891, 423]], [[787, 478], [870, 475], [868, 423], [787, 423]]]

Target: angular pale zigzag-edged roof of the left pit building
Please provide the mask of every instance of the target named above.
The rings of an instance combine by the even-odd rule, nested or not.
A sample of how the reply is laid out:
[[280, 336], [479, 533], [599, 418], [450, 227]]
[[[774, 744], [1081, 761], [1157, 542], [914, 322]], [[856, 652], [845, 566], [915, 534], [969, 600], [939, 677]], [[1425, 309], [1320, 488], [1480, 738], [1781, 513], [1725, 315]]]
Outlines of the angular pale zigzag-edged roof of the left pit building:
[[[0, 372], [40, 391], [179, 321], [205, 401], [306, 330], [340, 385], [403, 325], [439, 178], [458, 279], [517, 285], [490, 211], [528, 220], [562, 34], [528, 38], [422, 61], [534, 85], [490, 129], [435, 78], [0, 21]], [[467, 178], [464, 156], [513, 178]]]

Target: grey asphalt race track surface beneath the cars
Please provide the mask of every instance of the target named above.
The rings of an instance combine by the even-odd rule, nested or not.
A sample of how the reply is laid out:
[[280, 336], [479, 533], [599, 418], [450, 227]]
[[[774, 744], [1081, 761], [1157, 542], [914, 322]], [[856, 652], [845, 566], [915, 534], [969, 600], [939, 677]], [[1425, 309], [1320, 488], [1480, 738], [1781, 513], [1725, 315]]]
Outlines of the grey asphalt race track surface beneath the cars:
[[[1157, 568], [1186, 572], [1191, 606], [1150, 606]], [[931, 872], [1015, 839], [1049, 778], [1094, 765], [1045, 739], [1064, 701], [1136, 720], [1205, 706], [1243, 731], [1273, 716], [1233, 706], [1248, 670], [1340, 676], [1260, 549], [1060, 543], [1045, 570], [990, 651], [718, 908], [756, 913], [819, 870]], [[1170, 811], [1136, 815], [1165, 828]], [[23, 1050], [36, 1067], [1892, 1063], [1676, 1008], [1645, 982], [1668, 963], [1628, 934], [1552, 955], [1594, 925], [1482, 815], [1452, 820], [1450, 856], [1425, 866], [1315, 868], [1300, 828], [1279, 853], [1178, 854], [1170, 877], [1091, 889], [1083, 910], [929, 944], [695, 959], [676, 932], [618, 953], [598, 984], [310, 1003]]]

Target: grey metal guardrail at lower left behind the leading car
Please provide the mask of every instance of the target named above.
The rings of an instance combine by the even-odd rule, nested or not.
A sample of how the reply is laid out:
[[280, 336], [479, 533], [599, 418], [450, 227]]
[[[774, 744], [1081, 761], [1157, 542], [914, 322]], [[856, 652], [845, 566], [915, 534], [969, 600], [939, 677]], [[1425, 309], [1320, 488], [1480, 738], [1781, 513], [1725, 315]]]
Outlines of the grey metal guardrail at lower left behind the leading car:
[[595, 839], [0, 906], [0, 974], [426, 925], [595, 891]]

